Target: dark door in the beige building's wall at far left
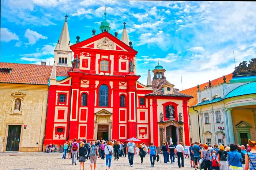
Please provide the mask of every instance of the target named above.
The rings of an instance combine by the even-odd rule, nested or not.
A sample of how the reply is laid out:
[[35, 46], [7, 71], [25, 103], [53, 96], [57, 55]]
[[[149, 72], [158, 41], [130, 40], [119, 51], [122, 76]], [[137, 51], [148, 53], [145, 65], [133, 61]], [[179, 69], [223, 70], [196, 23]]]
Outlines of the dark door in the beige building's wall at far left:
[[21, 125], [9, 125], [5, 151], [19, 151]]

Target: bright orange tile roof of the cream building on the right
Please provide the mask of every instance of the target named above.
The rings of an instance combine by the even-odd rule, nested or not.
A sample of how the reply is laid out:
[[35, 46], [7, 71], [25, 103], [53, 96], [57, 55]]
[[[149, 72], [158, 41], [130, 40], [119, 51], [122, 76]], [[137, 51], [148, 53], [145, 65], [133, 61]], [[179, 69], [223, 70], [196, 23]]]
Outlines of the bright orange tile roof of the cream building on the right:
[[[232, 73], [226, 75], [226, 82], [229, 83], [229, 80], [232, 79]], [[219, 84], [223, 83], [223, 77], [211, 80], [211, 86], [217, 86]], [[203, 90], [205, 86], [209, 86], [209, 82], [203, 83], [203, 84], [199, 84], [199, 88], [200, 90]], [[189, 107], [195, 106], [197, 104], [197, 86], [195, 87], [191, 87], [185, 90], [180, 91], [182, 93], [188, 94], [188, 95], [192, 95], [194, 98], [189, 99], [188, 105]]]

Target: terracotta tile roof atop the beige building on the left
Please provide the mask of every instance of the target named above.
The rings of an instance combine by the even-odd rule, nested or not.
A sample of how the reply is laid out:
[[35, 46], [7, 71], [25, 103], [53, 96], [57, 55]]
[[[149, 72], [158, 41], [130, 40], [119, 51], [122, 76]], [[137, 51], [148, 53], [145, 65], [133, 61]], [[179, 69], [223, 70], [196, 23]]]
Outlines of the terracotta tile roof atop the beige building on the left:
[[[52, 66], [37, 64], [0, 63], [0, 68], [11, 69], [10, 73], [0, 73], [0, 83], [48, 85]], [[71, 67], [56, 66], [57, 76], [68, 76]]]

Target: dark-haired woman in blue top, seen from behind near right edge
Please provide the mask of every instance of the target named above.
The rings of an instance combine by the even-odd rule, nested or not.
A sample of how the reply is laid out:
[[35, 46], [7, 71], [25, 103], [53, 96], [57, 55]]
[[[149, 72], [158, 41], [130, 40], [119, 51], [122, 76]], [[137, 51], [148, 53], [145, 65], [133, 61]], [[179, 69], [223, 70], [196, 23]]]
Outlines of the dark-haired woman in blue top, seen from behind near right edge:
[[227, 161], [229, 161], [229, 170], [243, 170], [242, 156], [237, 152], [237, 145], [230, 144], [230, 151], [227, 152]]

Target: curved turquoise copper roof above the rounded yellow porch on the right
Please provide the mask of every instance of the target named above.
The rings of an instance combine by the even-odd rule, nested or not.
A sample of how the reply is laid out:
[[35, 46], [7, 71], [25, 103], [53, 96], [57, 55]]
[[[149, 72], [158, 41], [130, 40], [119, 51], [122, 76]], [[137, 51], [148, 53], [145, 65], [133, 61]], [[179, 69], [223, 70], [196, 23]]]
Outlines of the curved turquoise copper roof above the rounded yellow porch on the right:
[[235, 88], [234, 90], [230, 91], [224, 99], [246, 94], [256, 94], [256, 82], [247, 83]]

